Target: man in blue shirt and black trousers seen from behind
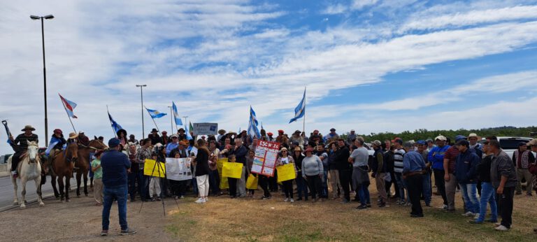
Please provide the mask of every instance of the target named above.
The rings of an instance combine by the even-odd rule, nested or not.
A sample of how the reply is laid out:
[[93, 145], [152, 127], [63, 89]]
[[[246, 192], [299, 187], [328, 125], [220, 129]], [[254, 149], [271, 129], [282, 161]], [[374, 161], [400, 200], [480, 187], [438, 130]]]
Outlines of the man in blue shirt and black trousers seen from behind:
[[410, 217], [423, 217], [422, 204], [420, 203], [420, 195], [423, 187], [423, 173], [425, 170], [425, 162], [420, 153], [414, 150], [412, 143], [406, 142], [404, 145], [406, 151], [403, 157], [403, 179], [407, 184], [408, 197], [412, 203], [412, 211]]

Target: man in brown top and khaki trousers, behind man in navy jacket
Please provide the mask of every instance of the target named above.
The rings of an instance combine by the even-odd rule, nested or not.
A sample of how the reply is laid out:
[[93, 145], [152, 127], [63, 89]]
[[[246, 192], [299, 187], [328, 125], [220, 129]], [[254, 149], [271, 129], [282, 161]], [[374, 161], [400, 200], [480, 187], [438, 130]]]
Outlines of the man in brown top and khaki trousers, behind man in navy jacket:
[[[455, 142], [466, 139], [466, 137], [457, 135]], [[445, 150], [444, 154], [444, 180], [445, 180], [445, 197], [447, 199], [447, 211], [454, 213], [455, 211], [455, 192], [457, 191], [457, 177], [455, 176], [455, 166], [457, 164], [457, 155], [459, 150], [455, 146], [451, 146]]]

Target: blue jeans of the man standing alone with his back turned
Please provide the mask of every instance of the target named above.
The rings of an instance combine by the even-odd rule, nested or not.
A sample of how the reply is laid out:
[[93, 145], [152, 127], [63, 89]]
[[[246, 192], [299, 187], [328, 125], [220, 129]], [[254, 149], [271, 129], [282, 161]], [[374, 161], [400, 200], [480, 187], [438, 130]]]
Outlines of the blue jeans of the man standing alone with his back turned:
[[117, 211], [120, 214], [121, 230], [126, 230], [127, 226], [127, 184], [117, 187], [104, 186], [103, 202], [103, 230], [108, 230], [110, 225], [110, 208], [114, 199], [117, 200]]

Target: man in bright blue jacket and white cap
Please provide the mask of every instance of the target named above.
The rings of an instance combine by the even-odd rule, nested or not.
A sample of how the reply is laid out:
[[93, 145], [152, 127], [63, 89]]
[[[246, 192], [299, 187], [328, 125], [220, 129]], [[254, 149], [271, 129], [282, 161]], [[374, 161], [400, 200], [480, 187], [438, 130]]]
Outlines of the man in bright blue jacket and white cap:
[[446, 145], [445, 141], [447, 138], [445, 136], [437, 136], [435, 138], [436, 146], [429, 151], [427, 159], [432, 163], [433, 174], [434, 174], [434, 185], [438, 189], [438, 193], [441, 194], [444, 204], [443, 209], [447, 209], [447, 197], [445, 195], [445, 183], [444, 183], [444, 155], [447, 149], [450, 148], [450, 145]]

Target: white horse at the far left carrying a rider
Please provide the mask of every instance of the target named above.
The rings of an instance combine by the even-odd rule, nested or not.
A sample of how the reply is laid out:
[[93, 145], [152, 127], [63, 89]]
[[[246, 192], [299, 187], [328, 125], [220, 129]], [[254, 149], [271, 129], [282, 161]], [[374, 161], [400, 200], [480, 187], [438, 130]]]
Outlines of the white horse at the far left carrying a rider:
[[[38, 155], [38, 145], [36, 142], [31, 141], [28, 143], [27, 152], [22, 155], [21, 160], [17, 166], [17, 173], [19, 174], [20, 185], [22, 185], [22, 192], [20, 200], [17, 197], [17, 178], [11, 176], [11, 182], [13, 183], [13, 190], [15, 191], [15, 199], [13, 199], [13, 205], [20, 204], [20, 209], [26, 208], [26, 183], [29, 180], [36, 182], [37, 201], [39, 206], [45, 206], [43, 199], [41, 198], [41, 159]], [[12, 156], [13, 157], [13, 156]], [[8, 159], [8, 167], [11, 167], [11, 159]]]

